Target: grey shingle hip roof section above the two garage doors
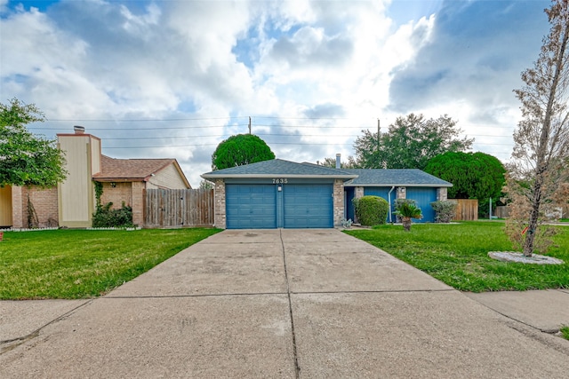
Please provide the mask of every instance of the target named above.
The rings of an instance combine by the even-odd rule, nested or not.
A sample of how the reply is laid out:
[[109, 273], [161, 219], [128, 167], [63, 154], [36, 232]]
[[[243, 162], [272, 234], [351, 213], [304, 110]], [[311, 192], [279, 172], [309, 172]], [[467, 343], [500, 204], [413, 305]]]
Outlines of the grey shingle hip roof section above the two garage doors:
[[273, 159], [270, 161], [246, 164], [224, 170], [207, 172], [202, 175], [205, 179], [215, 178], [274, 178], [286, 176], [288, 178], [356, 178], [357, 174], [346, 170], [337, 170], [330, 167], [311, 163], [296, 163]]

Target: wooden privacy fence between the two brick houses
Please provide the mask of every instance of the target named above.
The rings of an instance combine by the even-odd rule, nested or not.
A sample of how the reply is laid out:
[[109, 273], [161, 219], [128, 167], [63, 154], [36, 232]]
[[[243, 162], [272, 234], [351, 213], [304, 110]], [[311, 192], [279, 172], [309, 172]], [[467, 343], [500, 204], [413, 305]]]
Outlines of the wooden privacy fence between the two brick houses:
[[212, 226], [212, 189], [148, 189], [144, 193], [146, 227]]

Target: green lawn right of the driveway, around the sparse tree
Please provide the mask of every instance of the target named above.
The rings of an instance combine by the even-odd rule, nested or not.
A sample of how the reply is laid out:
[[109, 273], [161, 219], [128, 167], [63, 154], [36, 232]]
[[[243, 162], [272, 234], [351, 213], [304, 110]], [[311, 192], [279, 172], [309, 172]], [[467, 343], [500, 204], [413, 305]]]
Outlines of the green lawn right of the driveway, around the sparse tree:
[[511, 251], [502, 222], [465, 222], [460, 225], [380, 225], [372, 230], [347, 231], [387, 251], [429, 275], [462, 291], [484, 292], [569, 288], [569, 227], [558, 226], [558, 247], [549, 255], [564, 265], [504, 263], [489, 251]]

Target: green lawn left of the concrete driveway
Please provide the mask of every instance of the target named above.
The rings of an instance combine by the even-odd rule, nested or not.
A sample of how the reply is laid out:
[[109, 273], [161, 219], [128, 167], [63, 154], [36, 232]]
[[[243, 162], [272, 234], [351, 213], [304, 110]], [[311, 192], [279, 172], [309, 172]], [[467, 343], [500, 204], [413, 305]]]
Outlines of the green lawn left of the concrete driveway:
[[100, 296], [219, 231], [4, 232], [0, 299]]

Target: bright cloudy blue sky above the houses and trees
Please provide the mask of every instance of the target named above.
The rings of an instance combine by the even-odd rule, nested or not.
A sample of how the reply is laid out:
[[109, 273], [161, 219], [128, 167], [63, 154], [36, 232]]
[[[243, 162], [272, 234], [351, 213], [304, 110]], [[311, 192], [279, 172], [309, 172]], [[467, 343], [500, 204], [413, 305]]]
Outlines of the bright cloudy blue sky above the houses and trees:
[[0, 102], [55, 138], [83, 125], [114, 158], [176, 158], [192, 186], [225, 138], [277, 158], [353, 155], [361, 130], [449, 114], [506, 162], [512, 90], [549, 0], [0, 0]]

